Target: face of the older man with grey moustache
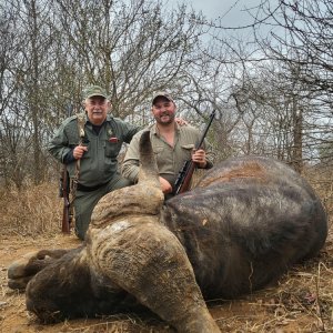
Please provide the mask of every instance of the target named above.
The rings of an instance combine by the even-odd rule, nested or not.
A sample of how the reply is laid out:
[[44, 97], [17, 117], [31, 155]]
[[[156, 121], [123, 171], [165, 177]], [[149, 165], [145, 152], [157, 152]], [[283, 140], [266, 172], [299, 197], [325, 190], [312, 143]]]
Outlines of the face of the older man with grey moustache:
[[88, 118], [92, 124], [102, 124], [107, 119], [110, 102], [101, 95], [94, 95], [84, 101]]

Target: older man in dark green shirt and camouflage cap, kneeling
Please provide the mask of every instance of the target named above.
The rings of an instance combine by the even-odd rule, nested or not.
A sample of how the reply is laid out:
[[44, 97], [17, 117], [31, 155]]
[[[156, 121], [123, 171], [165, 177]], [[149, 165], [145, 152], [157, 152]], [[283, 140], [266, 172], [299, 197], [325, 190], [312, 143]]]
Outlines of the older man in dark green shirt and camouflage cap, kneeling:
[[90, 85], [83, 91], [85, 113], [65, 119], [49, 143], [49, 152], [67, 165], [73, 193], [75, 234], [83, 240], [97, 202], [107, 193], [131, 184], [118, 171], [118, 154], [141, 129], [108, 113], [107, 91]]

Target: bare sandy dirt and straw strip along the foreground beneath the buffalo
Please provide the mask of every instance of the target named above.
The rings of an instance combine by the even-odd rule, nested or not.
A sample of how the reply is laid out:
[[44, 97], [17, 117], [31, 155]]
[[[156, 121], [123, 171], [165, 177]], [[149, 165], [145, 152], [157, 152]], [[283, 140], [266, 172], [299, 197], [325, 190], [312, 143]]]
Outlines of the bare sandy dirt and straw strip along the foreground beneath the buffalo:
[[[7, 286], [8, 265], [40, 249], [75, 248], [73, 235], [27, 239], [4, 236], [0, 243], [0, 332], [174, 332], [152, 314], [119, 314], [42, 325], [26, 311], [24, 294]], [[240, 300], [208, 302], [221, 332], [333, 332], [333, 242], [314, 260], [295, 266], [276, 285]]]

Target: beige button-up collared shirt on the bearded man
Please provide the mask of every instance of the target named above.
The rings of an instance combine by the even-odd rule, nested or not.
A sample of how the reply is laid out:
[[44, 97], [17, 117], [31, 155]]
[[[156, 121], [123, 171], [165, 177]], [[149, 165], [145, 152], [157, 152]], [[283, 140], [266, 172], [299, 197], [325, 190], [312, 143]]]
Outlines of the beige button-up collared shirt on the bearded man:
[[[190, 125], [179, 127], [175, 124], [174, 143], [170, 145], [163, 137], [159, 134], [157, 124], [150, 127], [150, 139], [152, 149], [157, 158], [159, 168], [159, 174], [167, 179], [171, 185], [174, 184], [178, 174], [184, 163], [191, 159], [192, 150], [201, 138], [201, 132]], [[122, 164], [122, 175], [130, 179], [132, 182], [138, 181], [139, 175], [139, 142], [142, 133], [147, 131], [142, 130], [138, 132], [127, 151], [124, 161]], [[203, 144], [203, 149], [208, 150], [206, 141]], [[206, 152], [208, 165], [206, 169], [212, 168], [211, 162], [212, 153], [210, 150]]]

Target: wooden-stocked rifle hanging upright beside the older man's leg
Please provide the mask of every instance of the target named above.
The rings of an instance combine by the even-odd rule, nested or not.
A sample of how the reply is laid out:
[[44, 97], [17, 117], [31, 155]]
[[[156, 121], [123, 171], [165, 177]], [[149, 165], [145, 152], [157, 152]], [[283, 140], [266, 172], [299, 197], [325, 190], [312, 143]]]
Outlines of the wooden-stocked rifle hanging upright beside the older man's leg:
[[62, 212], [62, 224], [61, 224], [61, 231], [63, 233], [70, 233], [71, 222], [73, 218], [69, 194], [70, 194], [70, 178], [65, 164], [62, 164], [62, 170], [60, 174], [59, 196], [63, 198], [63, 212]]

